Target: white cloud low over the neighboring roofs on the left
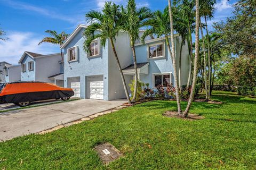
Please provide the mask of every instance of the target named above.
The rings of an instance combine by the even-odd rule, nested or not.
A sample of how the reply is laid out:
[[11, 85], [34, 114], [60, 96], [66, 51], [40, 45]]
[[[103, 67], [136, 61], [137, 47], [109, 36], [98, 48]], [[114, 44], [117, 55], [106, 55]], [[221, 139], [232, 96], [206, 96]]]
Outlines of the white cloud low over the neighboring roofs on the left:
[[43, 37], [35, 35], [32, 32], [7, 32], [6, 41], [0, 41], [0, 61], [6, 61], [11, 64], [18, 64], [18, 61], [25, 51], [39, 54], [59, 53], [58, 45], [38, 43]]

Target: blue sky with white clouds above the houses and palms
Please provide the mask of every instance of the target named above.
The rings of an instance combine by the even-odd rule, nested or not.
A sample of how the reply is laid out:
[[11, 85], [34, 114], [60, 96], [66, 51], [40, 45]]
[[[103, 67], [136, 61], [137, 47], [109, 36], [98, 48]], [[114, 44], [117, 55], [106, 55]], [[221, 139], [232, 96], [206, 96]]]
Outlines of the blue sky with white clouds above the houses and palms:
[[[40, 54], [58, 53], [59, 46], [42, 44], [45, 30], [71, 33], [77, 24], [85, 23], [84, 14], [100, 10], [106, 0], [0, 0], [0, 28], [6, 32], [7, 41], [0, 41], [0, 61], [17, 64], [25, 50]], [[209, 24], [225, 20], [232, 15], [236, 1], [217, 0], [214, 19]], [[113, 0], [126, 4], [126, 0]], [[140, 0], [137, 5], [151, 10], [163, 10], [167, 0]], [[210, 25], [210, 30], [212, 29]]]

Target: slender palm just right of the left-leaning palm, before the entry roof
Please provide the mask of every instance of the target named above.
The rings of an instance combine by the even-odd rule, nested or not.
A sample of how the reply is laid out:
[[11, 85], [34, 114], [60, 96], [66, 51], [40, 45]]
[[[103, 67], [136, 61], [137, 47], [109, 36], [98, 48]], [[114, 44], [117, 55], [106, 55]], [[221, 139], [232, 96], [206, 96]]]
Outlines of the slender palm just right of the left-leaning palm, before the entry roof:
[[129, 0], [126, 8], [123, 6], [122, 15], [123, 17], [123, 30], [127, 31], [131, 40], [132, 56], [134, 62], [134, 94], [132, 102], [136, 99], [137, 86], [138, 86], [138, 71], [137, 71], [137, 60], [135, 53], [135, 41], [139, 40], [139, 29], [147, 25], [147, 19], [151, 18], [151, 12], [147, 7], [137, 8], [134, 0]]

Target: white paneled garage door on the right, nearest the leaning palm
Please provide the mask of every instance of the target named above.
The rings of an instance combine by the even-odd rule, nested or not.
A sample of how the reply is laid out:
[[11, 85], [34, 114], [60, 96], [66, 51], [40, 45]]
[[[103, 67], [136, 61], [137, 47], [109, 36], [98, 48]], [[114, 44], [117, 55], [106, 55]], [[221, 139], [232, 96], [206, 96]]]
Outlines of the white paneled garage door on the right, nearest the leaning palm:
[[87, 78], [87, 94], [90, 99], [103, 100], [103, 76]]

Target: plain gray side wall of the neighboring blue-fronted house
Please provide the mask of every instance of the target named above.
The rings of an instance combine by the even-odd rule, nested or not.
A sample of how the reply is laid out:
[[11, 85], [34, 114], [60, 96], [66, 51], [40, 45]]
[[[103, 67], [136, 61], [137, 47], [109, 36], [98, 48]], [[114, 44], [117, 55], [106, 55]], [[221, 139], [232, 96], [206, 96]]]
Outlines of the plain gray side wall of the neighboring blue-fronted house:
[[60, 54], [36, 58], [35, 80], [54, 83], [54, 80], [50, 80], [48, 77], [60, 73], [61, 64], [59, 63], [59, 61], [61, 61]]

